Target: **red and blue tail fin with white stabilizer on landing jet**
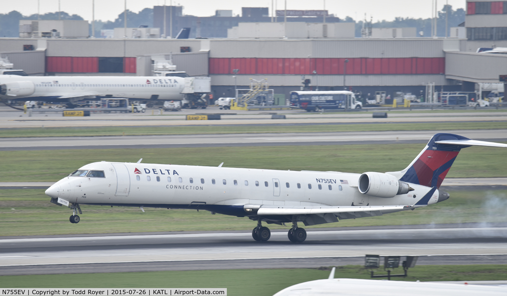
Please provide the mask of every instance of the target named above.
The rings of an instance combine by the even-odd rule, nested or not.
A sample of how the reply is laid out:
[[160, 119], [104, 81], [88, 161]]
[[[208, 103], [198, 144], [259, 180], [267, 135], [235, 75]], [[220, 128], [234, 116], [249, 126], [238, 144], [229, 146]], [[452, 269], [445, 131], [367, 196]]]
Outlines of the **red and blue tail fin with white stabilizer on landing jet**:
[[470, 140], [466, 137], [439, 133], [433, 135], [424, 149], [400, 172], [387, 172], [401, 181], [428, 187], [440, 187], [462, 148], [470, 146], [504, 147], [507, 144]]

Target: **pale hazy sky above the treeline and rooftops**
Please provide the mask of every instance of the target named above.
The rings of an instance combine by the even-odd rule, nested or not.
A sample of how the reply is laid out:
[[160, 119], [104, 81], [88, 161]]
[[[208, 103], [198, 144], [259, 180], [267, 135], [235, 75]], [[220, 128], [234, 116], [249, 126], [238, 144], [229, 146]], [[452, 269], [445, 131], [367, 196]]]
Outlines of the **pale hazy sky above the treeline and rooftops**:
[[[0, 13], [17, 10], [23, 15], [37, 13], [40, 1], [41, 14], [58, 11], [58, 0], [15, 0], [2, 1]], [[447, 0], [454, 9], [464, 8], [465, 0]], [[165, 0], [169, 5], [171, 0]], [[195, 16], [211, 16], [216, 9], [233, 10], [234, 14], [241, 14], [241, 7], [269, 7], [271, 0], [172, 0], [173, 5], [182, 5], [183, 13]], [[284, 0], [273, 0], [279, 10], [283, 9]], [[70, 14], [79, 14], [86, 20], [92, 19], [92, 0], [60, 0], [61, 10]], [[442, 9], [446, 0], [438, 1], [437, 7]], [[324, 0], [287, 0], [287, 9], [321, 10]], [[164, 5], [164, 0], [127, 0], [127, 9], [138, 12], [143, 8]], [[365, 13], [373, 20], [393, 20], [394, 17], [431, 17], [431, 0], [353, 0], [353, 1], [325, 1], [325, 8], [329, 13], [340, 18], [350, 16], [356, 20], [364, 18]], [[124, 10], [124, 0], [95, 0], [95, 19], [114, 20]]]

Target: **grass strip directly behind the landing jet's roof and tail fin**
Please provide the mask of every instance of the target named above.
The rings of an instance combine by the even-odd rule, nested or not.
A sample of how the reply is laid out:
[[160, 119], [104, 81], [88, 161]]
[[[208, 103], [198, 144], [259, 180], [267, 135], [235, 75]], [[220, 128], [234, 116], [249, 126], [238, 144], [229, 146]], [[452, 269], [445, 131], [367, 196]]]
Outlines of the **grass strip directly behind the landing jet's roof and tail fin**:
[[[291, 171], [339, 171], [347, 173], [394, 172], [405, 169], [424, 144], [363, 144], [318, 146], [247, 146], [149, 149], [68, 149], [0, 151], [2, 182], [58, 181], [95, 161], [167, 163]], [[507, 177], [499, 159], [507, 150], [491, 147], [463, 149], [449, 178]]]

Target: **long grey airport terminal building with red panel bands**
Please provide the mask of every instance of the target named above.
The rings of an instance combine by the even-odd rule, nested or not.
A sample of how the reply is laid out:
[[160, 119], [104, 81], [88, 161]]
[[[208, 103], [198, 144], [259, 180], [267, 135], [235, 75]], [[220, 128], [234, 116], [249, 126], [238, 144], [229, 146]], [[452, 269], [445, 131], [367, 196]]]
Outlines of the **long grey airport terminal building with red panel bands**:
[[507, 2], [467, 1], [466, 38], [336, 37], [342, 33], [337, 27], [331, 36], [333, 23], [303, 23], [299, 29], [298, 22], [262, 24], [283, 36], [0, 38], [0, 55], [15, 69], [46, 76], [152, 76], [152, 61], [171, 57], [178, 71], [211, 77], [215, 98], [234, 96], [235, 85], [245, 88], [251, 79], [267, 78], [270, 88], [286, 95], [310, 79], [310, 90], [346, 87], [394, 96], [422, 94], [428, 83], [436, 90], [474, 91], [475, 83], [499, 83], [499, 75], [507, 74], [507, 54], [476, 52], [507, 47]]

